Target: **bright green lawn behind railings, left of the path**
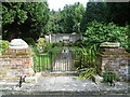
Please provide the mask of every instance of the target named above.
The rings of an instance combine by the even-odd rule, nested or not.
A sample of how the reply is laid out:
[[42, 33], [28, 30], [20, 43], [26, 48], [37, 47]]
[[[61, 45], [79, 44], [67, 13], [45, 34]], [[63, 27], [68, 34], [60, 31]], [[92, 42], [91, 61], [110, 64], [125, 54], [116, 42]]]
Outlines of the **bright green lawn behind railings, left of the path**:
[[38, 54], [36, 47], [31, 47], [31, 51], [34, 52], [35, 71], [51, 70], [51, 64], [60, 52], [52, 50], [52, 54], [50, 53]]

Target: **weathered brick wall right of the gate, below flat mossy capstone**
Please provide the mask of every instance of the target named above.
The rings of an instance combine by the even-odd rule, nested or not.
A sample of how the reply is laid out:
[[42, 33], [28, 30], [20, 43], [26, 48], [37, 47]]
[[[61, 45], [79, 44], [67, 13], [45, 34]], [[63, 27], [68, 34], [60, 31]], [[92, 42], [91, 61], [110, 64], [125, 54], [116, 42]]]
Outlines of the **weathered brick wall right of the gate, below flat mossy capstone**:
[[122, 47], [102, 47], [101, 51], [102, 54], [99, 58], [102, 72], [110, 70], [116, 72], [119, 79], [130, 80], [130, 54], [128, 54]]

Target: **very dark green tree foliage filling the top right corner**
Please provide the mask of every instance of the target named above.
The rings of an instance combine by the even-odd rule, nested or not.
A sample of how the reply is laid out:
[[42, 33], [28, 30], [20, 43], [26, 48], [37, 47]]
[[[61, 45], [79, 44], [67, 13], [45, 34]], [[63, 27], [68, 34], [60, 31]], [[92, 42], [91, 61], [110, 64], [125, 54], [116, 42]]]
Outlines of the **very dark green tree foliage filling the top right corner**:
[[81, 22], [81, 31], [87, 30], [87, 24], [93, 20], [106, 24], [114, 23], [119, 26], [130, 24], [130, 2], [88, 2]]

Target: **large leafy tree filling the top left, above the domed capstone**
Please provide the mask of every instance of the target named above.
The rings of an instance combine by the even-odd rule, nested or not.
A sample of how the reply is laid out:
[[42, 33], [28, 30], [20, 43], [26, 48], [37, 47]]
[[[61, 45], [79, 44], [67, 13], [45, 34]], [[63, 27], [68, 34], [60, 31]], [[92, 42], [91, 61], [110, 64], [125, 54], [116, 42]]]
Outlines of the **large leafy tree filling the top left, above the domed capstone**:
[[3, 39], [37, 39], [44, 32], [48, 13], [46, 2], [2, 2]]

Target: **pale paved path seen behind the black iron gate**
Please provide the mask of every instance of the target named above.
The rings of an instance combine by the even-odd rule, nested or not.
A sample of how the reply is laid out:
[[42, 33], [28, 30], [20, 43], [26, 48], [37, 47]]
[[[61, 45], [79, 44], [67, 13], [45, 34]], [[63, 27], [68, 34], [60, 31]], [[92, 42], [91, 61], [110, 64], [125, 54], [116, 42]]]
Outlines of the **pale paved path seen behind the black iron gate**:
[[53, 61], [53, 71], [69, 71], [74, 69], [73, 55], [68, 48], [63, 48]]

